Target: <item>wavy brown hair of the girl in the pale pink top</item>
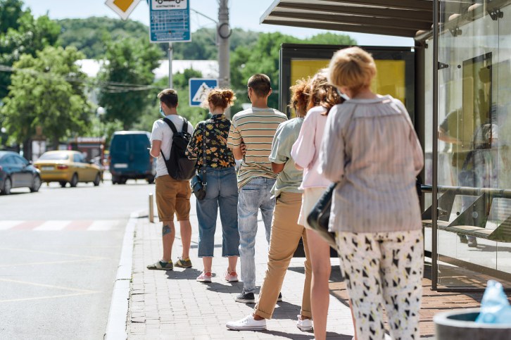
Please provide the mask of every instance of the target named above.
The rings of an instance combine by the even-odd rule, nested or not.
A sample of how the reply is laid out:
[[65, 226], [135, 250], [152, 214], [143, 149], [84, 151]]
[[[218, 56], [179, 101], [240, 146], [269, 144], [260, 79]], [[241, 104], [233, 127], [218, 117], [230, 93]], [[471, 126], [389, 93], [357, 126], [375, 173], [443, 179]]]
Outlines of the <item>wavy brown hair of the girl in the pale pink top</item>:
[[339, 96], [337, 89], [328, 82], [328, 69], [319, 70], [310, 81], [310, 97], [307, 109], [315, 106], [322, 106], [327, 109], [328, 115], [330, 109], [344, 100]]

